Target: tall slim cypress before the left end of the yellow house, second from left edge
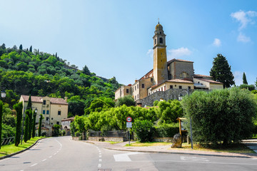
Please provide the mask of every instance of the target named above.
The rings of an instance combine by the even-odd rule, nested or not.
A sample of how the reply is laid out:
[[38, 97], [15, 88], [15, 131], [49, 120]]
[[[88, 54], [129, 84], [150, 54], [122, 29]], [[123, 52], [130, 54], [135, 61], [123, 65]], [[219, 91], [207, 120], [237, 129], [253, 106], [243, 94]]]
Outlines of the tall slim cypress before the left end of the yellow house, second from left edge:
[[15, 133], [15, 146], [19, 145], [21, 140], [21, 120], [22, 120], [22, 102], [14, 105], [14, 109], [16, 110], [16, 133]]

